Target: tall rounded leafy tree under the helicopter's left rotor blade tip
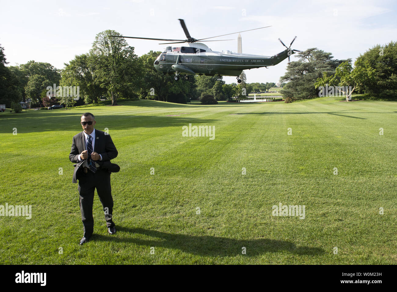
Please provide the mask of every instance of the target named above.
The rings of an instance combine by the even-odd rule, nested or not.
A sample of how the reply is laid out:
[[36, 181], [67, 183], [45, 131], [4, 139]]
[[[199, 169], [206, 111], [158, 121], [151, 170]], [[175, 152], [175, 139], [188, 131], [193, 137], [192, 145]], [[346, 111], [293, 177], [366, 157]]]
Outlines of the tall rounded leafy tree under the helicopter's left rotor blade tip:
[[120, 36], [113, 30], [98, 33], [90, 53], [96, 56], [94, 78], [110, 93], [112, 105], [117, 105], [119, 95], [137, 96], [142, 76], [134, 48], [125, 39], [110, 35]]

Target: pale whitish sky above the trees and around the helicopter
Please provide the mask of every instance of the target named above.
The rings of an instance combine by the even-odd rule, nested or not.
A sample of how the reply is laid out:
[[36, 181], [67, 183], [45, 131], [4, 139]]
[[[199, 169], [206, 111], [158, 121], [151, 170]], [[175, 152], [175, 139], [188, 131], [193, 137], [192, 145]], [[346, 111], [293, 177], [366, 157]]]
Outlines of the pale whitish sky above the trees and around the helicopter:
[[[75, 55], [88, 52], [95, 35], [106, 29], [133, 37], [185, 39], [178, 18], [185, 19], [196, 39], [272, 25], [241, 33], [243, 53], [266, 56], [283, 50], [278, 38], [288, 46], [297, 35], [291, 48], [316, 47], [354, 62], [368, 48], [396, 41], [397, 36], [393, 0], [0, 0], [0, 7], [0, 44], [8, 66], [35, 60], [62, 69]], [[215, 51], [237, 51], [237, 35], [218, 39], [235, 40], [205, 44]], [[126, 40], [138, 56], [166, 47], [159, 41]], [[287, 61], [245, 70], [247, 82], [277, 82]], [[224, 80], [236, 81], [235, 77]]]

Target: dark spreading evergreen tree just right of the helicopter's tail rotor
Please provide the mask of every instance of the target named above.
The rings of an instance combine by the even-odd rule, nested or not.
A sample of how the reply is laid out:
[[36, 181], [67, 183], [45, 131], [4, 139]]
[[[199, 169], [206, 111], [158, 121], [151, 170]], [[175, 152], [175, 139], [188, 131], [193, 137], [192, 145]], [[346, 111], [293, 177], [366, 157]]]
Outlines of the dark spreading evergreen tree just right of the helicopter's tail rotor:
[[281, 90], [285, 102], [299, 99], [311, 99], [318, 97], [318, 91], [314, 88], [317, 78], [322, 77], [323, 72], [333, 75], [339, 64], [349, 60], [334, 60], [329, 52], [309, 48], [297, 54], [298, 61], [289, 62], [287, 72], [280, 77], [280, 81], [289, 81]]

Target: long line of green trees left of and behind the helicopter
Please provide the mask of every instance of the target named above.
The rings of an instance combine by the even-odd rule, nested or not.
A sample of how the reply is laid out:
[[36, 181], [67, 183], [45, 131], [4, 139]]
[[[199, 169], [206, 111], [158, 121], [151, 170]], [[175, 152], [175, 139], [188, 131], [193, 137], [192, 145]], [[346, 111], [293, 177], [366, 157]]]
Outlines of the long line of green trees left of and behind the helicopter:
[[[240, 76], [243, 82], [238, 85], [225, 84], [222, 78], [205, 75], [175, 81], [173, 76], [163, 75], [153, 66], [161, 52], [150, 51], [138, 57], [125, 39], [109, 35], [120, 34], [112, 30], [98, 33], [91, 50], [64, 63], [63, 70], [33, 60], [7, 67], [4, 48], [0, 46], [0, 103], [7, 107], [20, 101], [29, 102], [31, 107], [60, 103], [77, 106], [108, 99], [116, 105], [118, 99], [139, 98], [186, 103], [204, 95], [223, 101], [251, 92], [265, 92], [275, 86], [269, 82], [247, 83], [244, 73]], [[57, 95], [58, 86], [79, 87], [79, 98], [71, 94]], [[51, 87], [50, 94], [48, 87]]]

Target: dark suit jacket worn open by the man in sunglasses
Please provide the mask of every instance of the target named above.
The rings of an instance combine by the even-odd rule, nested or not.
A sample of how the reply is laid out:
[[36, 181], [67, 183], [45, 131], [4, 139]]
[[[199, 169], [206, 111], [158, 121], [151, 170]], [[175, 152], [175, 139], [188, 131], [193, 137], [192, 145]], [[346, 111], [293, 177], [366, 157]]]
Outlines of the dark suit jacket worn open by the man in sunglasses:
[[[95, 161], [99, 165], [114, 170], [113, 172], [117, 172], [120, 168], [117, 164], [110, 163], [111, 159], [114, 159], [118, 155], [118, 151], [116, 146], [112, 141], [110, 135], [105, 134], [104, 131], [96, 130], [95, 131], [95, 144], [94, 144], [94, 152], [100, 154], [102, 156], [101, 161]], [[79, 178], [79, 173], [83, 168], [84, 161], [78, 161], [78, 157], [81, 152], [87, 150], [85, 146], [85, 137], [83, 131], [74, 135], [72, 148], [69, 154], [69, 159], [71, 162], [75, 162], [75, 170], [73, 172], [73, 183], [77, 183], [77, 179]], [[118, 169], [117, 169], [118, 168]]]

